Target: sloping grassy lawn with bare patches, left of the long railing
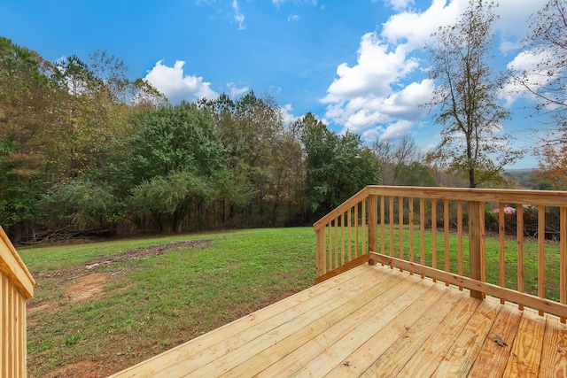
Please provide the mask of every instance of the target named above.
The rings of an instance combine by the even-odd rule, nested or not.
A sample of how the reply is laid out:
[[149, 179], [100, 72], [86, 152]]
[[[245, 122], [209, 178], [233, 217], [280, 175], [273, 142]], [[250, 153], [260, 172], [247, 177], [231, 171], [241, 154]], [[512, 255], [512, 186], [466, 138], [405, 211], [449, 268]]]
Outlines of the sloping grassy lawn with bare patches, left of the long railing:
[[[186, 239], [207, 242], [159, 256], [120, 258], [136, 248]], [[30, 376], [113, 373], [315, 279], [313, 228], [176, 235], [19, 253], [37, 281], [35, 298], [28, 302]], [[94, 262], [100, 265], [85, 268]], [[76, 282], [94, 276], [102, 277], [101, 293], [81, 301], [69, 296]], [[101, 282], [91, 282], [96, 284]]]

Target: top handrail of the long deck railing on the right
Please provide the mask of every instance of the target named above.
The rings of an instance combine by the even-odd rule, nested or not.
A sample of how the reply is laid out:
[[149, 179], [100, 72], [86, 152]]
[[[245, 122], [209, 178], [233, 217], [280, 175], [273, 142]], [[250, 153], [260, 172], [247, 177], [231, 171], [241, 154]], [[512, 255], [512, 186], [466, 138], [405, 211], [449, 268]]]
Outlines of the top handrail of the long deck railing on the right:
[[353, 197], [317, 220], [315, 231], [335, 220], [340, 214], [353, 207], [354, 204], [370, 195], [387, 195], [392, 197], [416, 197], [434, 199], [452, 199], [480, 202], [505, 202], [508, 204], [536, 204], [567, 207], [567, 191], [560, 190], [528, 190], [528, 189], [485, 189], [485, 188], [444, 188], [444, 187], [411, 187], [368, 185]]

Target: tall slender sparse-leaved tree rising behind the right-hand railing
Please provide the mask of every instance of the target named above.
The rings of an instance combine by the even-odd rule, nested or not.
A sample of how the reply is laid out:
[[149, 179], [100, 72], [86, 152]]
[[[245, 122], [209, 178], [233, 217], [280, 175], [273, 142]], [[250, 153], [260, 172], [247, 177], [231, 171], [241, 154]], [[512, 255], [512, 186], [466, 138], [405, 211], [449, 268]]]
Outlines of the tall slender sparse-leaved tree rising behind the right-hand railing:
[[431, 109], [443, 125], [434, 157], [469, 181], [469, 187], [500, 183], [506, 165], [522, 155], [510, 146], [512, 137], [502, 133], [501, 120], [509, 112], [498, 104], [501, 80], [488, 65], [492, 58], [493, 3], [470, 0], [453, 26], [440, 27], [428, 46], [430, 78], [438, 85]]

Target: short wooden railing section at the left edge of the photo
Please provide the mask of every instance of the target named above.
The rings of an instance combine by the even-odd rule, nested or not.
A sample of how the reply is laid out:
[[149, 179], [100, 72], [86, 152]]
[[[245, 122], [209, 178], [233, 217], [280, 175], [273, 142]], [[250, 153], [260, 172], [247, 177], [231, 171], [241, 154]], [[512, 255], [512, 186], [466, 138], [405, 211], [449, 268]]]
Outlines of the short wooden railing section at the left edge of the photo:
[[27, 376], [26, 301], [35, 281], [0, 227], [0, 376]]

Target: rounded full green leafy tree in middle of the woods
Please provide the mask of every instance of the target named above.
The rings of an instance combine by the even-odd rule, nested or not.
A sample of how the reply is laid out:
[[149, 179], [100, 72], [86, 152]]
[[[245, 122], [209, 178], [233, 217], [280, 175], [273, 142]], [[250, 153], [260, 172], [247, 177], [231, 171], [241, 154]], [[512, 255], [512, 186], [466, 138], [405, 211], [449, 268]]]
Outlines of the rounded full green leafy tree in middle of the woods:
[[225, 150], [197, 104], [146, 111], [115, 158], [116, 197], [138, 228], [181, 231], [192, 210], [225, 195], [214, 186], [227, 180]]

